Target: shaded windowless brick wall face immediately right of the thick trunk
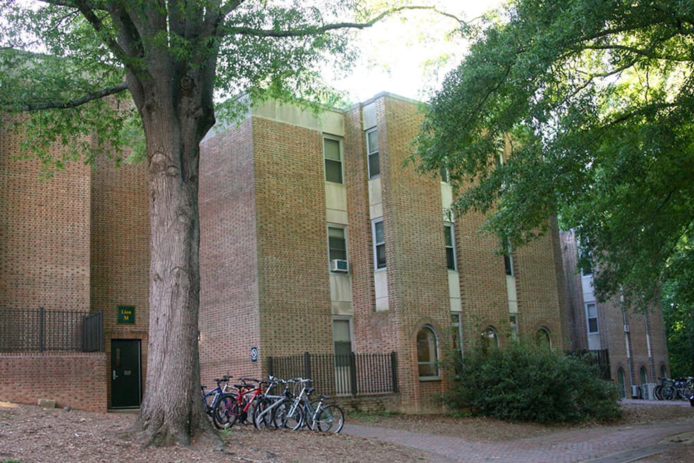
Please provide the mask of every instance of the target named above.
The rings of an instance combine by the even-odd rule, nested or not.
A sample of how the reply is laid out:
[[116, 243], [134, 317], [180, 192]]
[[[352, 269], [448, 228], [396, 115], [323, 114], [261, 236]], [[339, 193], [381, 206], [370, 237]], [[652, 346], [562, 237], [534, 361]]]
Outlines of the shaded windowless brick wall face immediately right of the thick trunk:
[[[260, 376], [251, 347], [260, 347], [253, 121], [201, 145], [201, 381]], [[261, 352], [264, 355], [264, 352]]]

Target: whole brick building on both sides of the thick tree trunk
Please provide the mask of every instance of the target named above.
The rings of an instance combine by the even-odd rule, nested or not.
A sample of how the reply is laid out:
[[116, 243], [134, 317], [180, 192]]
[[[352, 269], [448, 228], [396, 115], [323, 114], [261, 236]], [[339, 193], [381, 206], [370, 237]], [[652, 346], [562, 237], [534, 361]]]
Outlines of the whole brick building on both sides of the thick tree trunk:
[[[396, 394], [379, 400], [426, 411], [439, 406], [442, 363], [461, 346], [516, 337], [570, 346], [556, 226], [498, 254], [498, 239], [477, 232], [481, 215], [447, 213], [448, 183], [405, 165], [420, 122], [418, 103], [391, 94], [318, 116], [266, 103], [203, 142], [203, 384], [262, 376], [269, 357], [382, 354]], [[49, 368], [44, 394], [60, 405], [137, 406], [149, 318], [146, 167], [70, 165], [40, 182], [35, 162], [8, 156], [18, 142], [1, 134], [0, 312], [103, 310], [105, 353], [0, 352], [0, 397], [32, 403], [27, 371], [43, 385]], [[346, 368], [330, 360], [332, 380]], [[366, 382], [382, 369], [362, 365]], [[81, 406], [87, 396], [96, 403]]]

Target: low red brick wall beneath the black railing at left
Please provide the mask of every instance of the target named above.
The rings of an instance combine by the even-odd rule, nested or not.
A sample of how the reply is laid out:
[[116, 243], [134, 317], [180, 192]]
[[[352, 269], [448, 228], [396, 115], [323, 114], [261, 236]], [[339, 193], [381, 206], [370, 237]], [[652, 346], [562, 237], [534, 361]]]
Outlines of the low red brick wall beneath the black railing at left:
[[0, 401], [105, 412], [107, 371], [103, 353], [0, 353]]

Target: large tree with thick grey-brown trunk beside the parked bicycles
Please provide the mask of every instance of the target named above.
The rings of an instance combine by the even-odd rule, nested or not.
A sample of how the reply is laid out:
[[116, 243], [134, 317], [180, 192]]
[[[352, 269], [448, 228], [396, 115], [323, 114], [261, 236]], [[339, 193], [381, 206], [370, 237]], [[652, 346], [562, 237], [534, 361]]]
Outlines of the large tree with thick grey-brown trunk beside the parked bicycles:
[[[144, 133], [149, 339], [135, 432], [147, 443], [188, 444], [210, 429], [198, 353], [201, 140], [219, 115], [248, 101], [330, 103], [319, 64], [348, 65], [350, 31], [404, 9], [434, 9], [371, 3], [0, 0], [3, 131], [22, 130], [24, 149], [49, 171], [97, 155], [118, 160]], [[217, 109], [217, 101], [226, 103]]]

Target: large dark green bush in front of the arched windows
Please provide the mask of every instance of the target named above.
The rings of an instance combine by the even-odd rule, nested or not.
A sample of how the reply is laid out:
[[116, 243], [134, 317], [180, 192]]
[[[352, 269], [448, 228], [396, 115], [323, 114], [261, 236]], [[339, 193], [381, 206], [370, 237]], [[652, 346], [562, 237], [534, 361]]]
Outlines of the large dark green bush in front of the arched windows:
[[609, 421], [619, 416], [617, 388], [582, 357], [543, 346], [465, 351], [450, 406], [478, 416], [537, 423]]

